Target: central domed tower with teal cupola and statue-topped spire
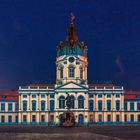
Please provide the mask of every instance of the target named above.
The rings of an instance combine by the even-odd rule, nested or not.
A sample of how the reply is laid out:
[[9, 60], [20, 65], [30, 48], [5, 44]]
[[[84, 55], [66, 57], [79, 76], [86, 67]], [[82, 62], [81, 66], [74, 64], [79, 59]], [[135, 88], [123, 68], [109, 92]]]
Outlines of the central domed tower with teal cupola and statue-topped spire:
[[68, 82], [87, 84], [87, 46], [84, 42], [78, 41], [74, 18], [74, 15], [71, 14], [66, 41], [60, 42], [57, 46], [57, 85]]

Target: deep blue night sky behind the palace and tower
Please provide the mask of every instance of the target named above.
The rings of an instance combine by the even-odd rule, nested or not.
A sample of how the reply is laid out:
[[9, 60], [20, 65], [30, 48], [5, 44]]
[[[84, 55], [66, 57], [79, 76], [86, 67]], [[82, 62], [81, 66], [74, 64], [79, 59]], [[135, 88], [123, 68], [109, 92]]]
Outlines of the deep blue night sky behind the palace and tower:
[[140, 90], [139, 0], [1, 0], [0, 89], [31, 80], [55, 83], [56, 46], [70, 13], [88, 46], [88, 79]]

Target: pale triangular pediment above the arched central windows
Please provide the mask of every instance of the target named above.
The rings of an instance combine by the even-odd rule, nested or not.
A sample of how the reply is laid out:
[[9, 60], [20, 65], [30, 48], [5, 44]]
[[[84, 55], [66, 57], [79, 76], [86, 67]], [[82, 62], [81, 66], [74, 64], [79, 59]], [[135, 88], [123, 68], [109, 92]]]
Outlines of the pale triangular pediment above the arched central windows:
[[86, 88], [86, 86], [83, 86], [83, 85], [80, 85], [80, 84], [77, 84], [77, 83], [74, 83], [74, 82], [68, 82], [64, 85], [61, 85], [59, 87], [57, 87], [57, 89], [83, 89], [83, 88]]

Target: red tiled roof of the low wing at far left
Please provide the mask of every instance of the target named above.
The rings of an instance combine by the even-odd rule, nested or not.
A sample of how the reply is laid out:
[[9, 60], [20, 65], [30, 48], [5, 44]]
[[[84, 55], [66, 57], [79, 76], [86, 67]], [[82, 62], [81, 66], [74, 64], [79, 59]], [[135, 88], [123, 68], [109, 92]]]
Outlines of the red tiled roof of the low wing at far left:
[[18, 92], [0, 91], [0, 101], [18, 101]]

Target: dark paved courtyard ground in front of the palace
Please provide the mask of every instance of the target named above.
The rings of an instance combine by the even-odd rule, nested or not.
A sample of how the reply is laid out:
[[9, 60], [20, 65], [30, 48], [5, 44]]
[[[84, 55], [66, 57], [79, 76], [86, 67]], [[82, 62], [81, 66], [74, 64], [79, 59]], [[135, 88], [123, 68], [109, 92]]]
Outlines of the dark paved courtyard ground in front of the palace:
[[140, 125], [93, 125], [48, 127], [41, 125], [0, 125], [2, 140], [140, 140]]

